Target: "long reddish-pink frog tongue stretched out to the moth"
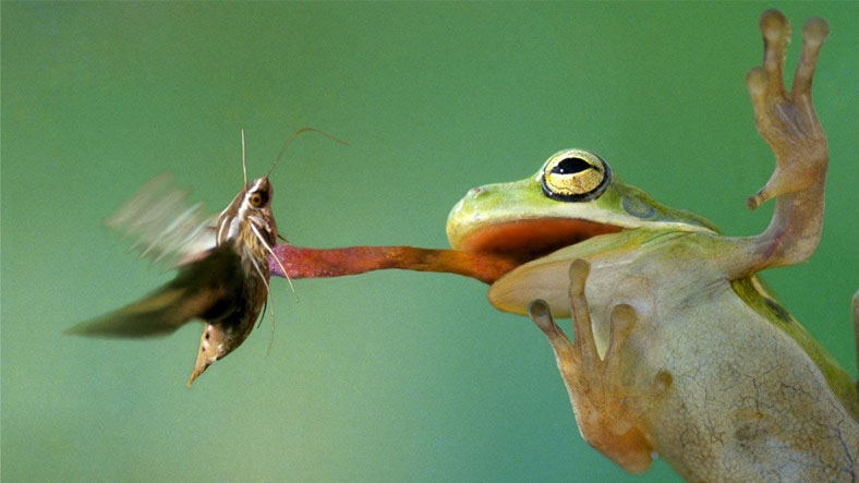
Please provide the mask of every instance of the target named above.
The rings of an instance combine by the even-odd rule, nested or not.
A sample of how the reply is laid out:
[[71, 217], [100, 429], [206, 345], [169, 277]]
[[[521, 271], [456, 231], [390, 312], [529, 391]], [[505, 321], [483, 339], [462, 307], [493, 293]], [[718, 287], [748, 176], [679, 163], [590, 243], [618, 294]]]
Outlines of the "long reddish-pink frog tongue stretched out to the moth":
[[[295, 279], [342, 277], [399, 268], [457, 274], [492, 283], [518, 265], [516, 261], [499, 255], [412, 246], [306, 249], [280, 244], [274, 250], [289, 277]], [[283, 276], [280, 264], [274, 257], [269, 257], [268, 266], [271, 275]]]

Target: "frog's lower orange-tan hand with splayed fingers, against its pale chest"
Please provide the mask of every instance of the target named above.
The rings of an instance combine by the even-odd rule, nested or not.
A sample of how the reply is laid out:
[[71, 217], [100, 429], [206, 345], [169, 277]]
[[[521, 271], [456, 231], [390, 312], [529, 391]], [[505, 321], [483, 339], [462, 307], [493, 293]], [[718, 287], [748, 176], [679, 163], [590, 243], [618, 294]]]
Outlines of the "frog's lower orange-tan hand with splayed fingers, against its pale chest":
[[636, 311], [626, 304], [616, 305], [612, 311], [608, 348], [605, 358], [600, 359], [584, 299], [589, 270], [590, 265], [583, 259], [577, 259], [570, 267], [576, 343], [571, 343], [555, 324], [546, 302], [531, 302], [528, 312], [555, 351], [582, 437], [625, 470], [639, 473], [650, 467], [653, 449], [637, 424], [668, 388], [672, 376], [661, 371], [640, 395], [630, 394], [621, 384], [620, 358], [638, 318]]

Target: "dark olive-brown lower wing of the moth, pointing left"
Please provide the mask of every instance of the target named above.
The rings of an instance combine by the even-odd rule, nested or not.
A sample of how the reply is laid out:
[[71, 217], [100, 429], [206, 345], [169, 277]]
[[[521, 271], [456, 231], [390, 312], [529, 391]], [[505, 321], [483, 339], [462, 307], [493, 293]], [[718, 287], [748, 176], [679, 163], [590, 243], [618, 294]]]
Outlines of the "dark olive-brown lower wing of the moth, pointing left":
[[152, 337], [172, 333], [193, 318], [222, 317], [241, 306], [241, 259], [226, 244], [179, 269], [176, 278], [118, 311], [83, 322], [65, 334]]

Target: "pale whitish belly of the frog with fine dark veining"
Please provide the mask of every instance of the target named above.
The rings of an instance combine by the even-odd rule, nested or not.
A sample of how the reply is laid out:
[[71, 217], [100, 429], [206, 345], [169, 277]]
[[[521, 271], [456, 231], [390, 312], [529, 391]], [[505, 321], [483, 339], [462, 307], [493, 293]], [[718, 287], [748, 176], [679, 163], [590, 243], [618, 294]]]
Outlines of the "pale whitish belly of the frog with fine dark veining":
[[672, 466], [706, 481], [850, 481], [859, 473], [859, 423], [794, 339], [727, 281], [693, 301], [677, 295], [657, 298], [661, 306], [624, 353], [632, 387], [646, 388], [660, 370], [673, 376], [641, 424]]

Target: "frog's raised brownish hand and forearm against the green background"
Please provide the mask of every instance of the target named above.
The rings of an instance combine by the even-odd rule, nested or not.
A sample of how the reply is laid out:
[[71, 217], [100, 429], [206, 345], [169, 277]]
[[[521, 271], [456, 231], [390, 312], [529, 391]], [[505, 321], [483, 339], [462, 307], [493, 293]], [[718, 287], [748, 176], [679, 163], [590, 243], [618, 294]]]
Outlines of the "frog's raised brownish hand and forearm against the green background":
[[758, 132], [773, 149], [776, 166], [770, 181], [748, 204], [755, 209], [775, 197], [775, 212], [766, 231], [734, 240], [737, 251], [724, 258], [731, 278], [807, 259], [818, 246], [823, 225], [828, 148], [811, 101], [811, 81], [830, 27], [822, 19], [806, 22], [802, 55], [787, 93], [783, 69], [790, 24], [781, 12], [770, 10], [761, 15], [760, 26], [763, 67], [749, 71], [746, 83]]

